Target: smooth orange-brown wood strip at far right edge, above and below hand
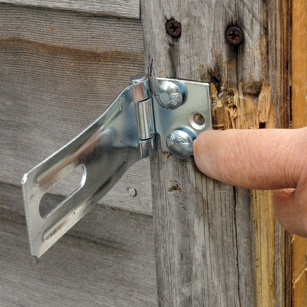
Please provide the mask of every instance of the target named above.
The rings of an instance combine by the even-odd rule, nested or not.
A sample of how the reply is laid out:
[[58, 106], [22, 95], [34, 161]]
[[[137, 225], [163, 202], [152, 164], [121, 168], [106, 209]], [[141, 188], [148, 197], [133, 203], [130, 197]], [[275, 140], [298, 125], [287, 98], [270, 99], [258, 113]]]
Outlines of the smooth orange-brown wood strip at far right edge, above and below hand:
[[[292, 1], [292, 84], [291, 110], [294, 129], [307, 126], [307, 2]], [[292, 250], [292, 307], [307, 305], [307, 239], [293, 235]]]

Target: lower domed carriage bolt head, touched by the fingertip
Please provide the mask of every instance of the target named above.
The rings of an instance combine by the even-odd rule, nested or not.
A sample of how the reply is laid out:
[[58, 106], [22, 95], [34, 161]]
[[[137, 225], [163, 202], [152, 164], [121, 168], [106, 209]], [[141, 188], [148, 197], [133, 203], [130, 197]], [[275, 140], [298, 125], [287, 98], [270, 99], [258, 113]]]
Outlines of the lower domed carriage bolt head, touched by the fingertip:
[[193, 138], [182, 130], [172, 131], [166, 138], [169, 152], [180, 159], [186, 159], [193, 154]]

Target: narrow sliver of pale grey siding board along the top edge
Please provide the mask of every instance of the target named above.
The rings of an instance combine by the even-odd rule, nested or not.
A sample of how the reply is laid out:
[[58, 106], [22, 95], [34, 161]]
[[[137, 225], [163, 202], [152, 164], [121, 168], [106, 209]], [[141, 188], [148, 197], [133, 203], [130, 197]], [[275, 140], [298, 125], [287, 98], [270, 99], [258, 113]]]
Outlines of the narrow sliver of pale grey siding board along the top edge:
[[98, 15], [140, 18], [139, 0], [0, 0], [0, 3], [72, 10]]

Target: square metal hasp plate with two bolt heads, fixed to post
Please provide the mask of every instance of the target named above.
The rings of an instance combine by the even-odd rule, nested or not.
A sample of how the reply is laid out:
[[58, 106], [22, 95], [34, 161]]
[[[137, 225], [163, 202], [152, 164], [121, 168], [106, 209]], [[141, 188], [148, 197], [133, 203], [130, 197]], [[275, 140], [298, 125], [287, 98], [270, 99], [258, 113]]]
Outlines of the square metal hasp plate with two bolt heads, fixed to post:
[[212, 129], [209, 84], [156, 78], [153, 115], [162, 152], [182, 159], [190, 157], [193, 140]]

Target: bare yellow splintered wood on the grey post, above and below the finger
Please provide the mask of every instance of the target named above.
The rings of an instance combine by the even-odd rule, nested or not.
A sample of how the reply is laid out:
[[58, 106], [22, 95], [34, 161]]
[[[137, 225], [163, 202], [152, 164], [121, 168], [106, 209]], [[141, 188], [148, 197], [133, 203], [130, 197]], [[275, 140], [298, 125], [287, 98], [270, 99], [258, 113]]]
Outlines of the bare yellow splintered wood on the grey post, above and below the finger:
[[[274, 107], [270, 84], [262, 84], [258, 95], [242, 86], [218, 92], [210, 84], [214, 129], [274, 128]], [[223, 121], [221, 121], [223, 118]], [[251, 191], [255, 237], [255, 275], [257, 307], [275, 302], [275, 219], [272, 191]]]

